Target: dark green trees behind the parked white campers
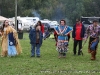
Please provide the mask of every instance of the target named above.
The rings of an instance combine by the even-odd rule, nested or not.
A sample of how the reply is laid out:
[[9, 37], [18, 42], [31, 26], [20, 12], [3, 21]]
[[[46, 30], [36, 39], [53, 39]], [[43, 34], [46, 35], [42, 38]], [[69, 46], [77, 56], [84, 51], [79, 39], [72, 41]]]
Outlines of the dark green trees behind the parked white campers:
[[[18, 16], [66, 19], [74, 23], [80, 16], [100, 16], [100, 0], [17, 0]], [[15, 16], [15, 0], [0, 0], [0, 15]]]

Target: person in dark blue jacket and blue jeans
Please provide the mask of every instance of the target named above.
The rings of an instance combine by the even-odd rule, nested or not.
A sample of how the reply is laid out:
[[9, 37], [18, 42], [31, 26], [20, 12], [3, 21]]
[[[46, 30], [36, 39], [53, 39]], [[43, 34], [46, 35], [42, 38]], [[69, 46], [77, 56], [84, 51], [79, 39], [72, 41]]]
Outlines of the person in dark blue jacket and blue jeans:
[[43, 33], [41, 31], [40, 25], [36, 25], [34, 29], [30, 29], [29, 39], [31, 44], [31, 57], [35, 57], [35, 47], [36, 56], [40, 57], [40, 47], [42, 45]]

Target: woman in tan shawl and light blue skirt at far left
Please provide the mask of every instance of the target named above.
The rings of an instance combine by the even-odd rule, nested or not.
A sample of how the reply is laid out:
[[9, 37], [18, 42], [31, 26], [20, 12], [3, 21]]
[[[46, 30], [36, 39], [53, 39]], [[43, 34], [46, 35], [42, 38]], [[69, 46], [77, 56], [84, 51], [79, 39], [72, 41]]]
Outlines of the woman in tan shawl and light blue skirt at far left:
[[17, 31], [9, 25], [9, 21], [5, 20], [1, 31], [1, 56], [16, 56], [19, 55], [22, 50], [19, 43]]

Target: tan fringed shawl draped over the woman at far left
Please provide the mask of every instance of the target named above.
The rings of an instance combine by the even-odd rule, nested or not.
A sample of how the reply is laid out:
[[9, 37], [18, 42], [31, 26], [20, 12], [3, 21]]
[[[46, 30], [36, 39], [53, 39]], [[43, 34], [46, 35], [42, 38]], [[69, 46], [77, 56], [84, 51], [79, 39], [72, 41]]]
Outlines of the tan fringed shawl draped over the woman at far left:
[[2, 47], [2, 54], [1, 55], [5, 55], [3, 54], [4, 51], [8, 51], [8, 34], [13, 32], [13, 36], [16, 40], [16, 50], [17, 50], [17, 54], [19, 55], [22, 52], [21, 49], [21, 45], [18, 39], [18, 34], [17, 31], [12, 28], [11, 26], [7, 26], [6, 30], [4, 32], [2, 32], [2, 40], [1, 40], [1, 47]]

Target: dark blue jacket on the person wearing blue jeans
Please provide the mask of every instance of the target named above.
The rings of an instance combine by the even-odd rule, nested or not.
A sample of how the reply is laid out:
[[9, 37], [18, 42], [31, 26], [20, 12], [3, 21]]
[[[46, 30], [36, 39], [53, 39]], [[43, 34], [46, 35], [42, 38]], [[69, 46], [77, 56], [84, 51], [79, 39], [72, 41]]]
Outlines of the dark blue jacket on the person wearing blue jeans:
[[[43, 39], [43, 34], [41, 31], [39, 31], [39, 44], [42, 44], [42, 39]], [[29, 39], [30, 39], [30, 44], [36, 44], [36, 30], [35, 29], [30, 29], [29, 32]]]

